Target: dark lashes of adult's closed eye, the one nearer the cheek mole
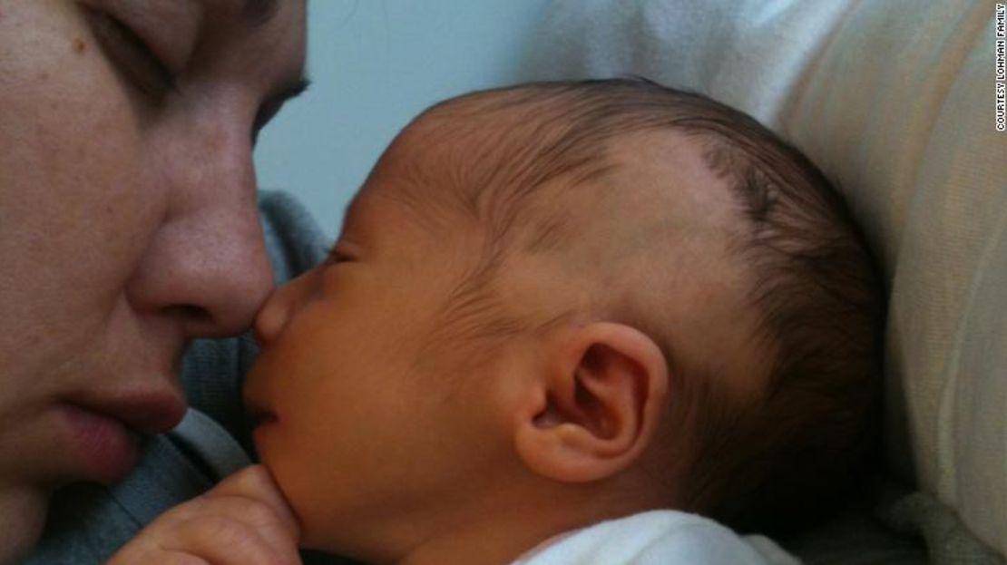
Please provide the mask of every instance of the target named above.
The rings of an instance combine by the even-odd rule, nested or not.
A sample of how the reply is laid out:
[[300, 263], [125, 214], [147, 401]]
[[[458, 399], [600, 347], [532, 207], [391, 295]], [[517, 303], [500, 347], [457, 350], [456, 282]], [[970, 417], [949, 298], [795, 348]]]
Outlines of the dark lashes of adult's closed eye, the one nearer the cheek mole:
[[137, 90], [160, 102], [175, 90], [175, 75], [128, 25], [111, 14], [87, 9], [106, 54]]

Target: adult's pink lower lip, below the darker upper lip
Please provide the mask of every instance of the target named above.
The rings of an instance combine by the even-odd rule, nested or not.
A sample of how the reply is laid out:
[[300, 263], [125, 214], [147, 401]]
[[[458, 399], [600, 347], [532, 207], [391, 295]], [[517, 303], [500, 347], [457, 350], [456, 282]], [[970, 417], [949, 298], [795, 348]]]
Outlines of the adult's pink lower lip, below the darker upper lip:
[[106, 484], [123, 478], [136, 462], [136, 434], [116, 418], [94, 410], [64, 404], [61, 411], [82, 478]]

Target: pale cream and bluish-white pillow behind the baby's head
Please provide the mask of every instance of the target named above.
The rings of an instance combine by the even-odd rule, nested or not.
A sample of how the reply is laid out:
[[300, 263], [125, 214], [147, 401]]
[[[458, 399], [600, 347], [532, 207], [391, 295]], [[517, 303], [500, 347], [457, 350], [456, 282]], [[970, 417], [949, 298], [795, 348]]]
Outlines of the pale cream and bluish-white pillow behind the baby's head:
[[1007, 554], [1007, 133], [989, 0], [556, 0], [528, 78], [641, 75], [741, 108], [882, 260], [890, 462]]

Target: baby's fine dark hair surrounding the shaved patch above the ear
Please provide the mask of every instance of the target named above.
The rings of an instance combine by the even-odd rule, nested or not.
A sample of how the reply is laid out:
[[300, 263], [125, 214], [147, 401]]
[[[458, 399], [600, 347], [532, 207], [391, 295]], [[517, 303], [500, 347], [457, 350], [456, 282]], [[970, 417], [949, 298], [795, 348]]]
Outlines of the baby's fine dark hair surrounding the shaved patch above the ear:
[[[499, 112], [515, 125], [484, 120]], [[767, 371], [752, 368], [766, 386], [750, 399], [724, 390], [744, 375], [672, 375], [671, 421], [688, 425], [694, 448], [677, 475], [679, 506], [742, 532], [780, 535], [827, 517], [862, 484], [878, 449], [883, 284], [846, 204], [807, 157], [742, 112], [642, 79], [475, 93], [425, 116], [438, 114], [462, 118], [462, 131], [447, 128], [438, 140], [435, 128], [428, 143], [465, 140], [456, 200], [489, 242], [482, 267], [453, 294], [452, 318], [497, 336], [521, 323], [493, 313], [502, 309], [490, 305], [487, 282], [515, 251], [514, 226], [538, 187], [617, 168], [606, 148], [622, 136], [667, 130], [700, 142], [743, 210], [734, 249], [753, 275], [757, 338], [774, 354]], [[489, 155], [500, 164], [473, 172], [471, 161]], [[564, 245], [555, 218], [532, 230], [539, 233], [521, 239], [533, 242], [521, 252]], [[651, 337], [667, 346], [663, 335]]]

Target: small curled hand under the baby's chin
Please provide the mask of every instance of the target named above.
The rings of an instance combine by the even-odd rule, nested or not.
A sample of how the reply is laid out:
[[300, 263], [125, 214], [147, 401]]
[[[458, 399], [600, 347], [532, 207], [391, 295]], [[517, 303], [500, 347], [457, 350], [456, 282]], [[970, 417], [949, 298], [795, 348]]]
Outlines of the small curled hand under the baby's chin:
[[109, 565], [295, 565], [299, 536], [269, 472], [252, 465], [159, 516]]

